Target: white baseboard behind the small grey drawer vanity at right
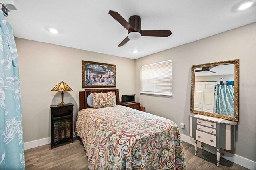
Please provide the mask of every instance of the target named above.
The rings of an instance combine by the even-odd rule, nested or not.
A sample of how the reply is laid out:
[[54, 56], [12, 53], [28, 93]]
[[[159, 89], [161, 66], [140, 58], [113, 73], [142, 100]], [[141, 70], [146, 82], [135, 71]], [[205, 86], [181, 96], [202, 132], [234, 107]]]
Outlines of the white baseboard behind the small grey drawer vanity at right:
[[[184, 134], [180, 134], [182, 141], [187, 142], [189, 144], [194, 145], [194, 138], [191, 138], [190, 136], [186, 136]], [[197, 147], [199, 148], [201, 146], [200, 142], [197, 142]], [[201, 147], [200, 147], [201, 148]], [[216, 155], [216, 152], [213, 152], [212, 150], [208, 150], [205, 148], [207, 152], [210, 152], [212, 154]], [[255, 170], [256, 169], [256, 162], [249, 160], [247, 158], [244, 158], [242, 156], [236, 155], [236, 154], [231, 154], [229, 152], [224, 151], [224, 159], [229, 160], [230, 162], [234, 162], [238, 165], [244, 166], [245, 168], [248, 168], [250, 170]]]

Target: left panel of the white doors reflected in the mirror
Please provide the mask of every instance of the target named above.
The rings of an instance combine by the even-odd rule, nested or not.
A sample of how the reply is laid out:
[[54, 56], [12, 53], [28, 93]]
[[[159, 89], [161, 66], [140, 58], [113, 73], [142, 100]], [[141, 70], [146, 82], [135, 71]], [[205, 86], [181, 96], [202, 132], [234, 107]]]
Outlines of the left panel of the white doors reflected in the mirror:
[[194, 110], [203, 110], [204, 82], [195, 82]]

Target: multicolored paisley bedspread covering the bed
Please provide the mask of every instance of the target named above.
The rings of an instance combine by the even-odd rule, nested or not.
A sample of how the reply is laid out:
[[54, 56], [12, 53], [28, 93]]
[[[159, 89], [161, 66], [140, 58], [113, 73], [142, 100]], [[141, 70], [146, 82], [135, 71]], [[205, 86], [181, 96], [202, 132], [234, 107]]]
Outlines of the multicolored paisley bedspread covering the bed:
[[93, 170], [187, 169], [176, 123], [116, 105], [78, 112], [76, 132]]

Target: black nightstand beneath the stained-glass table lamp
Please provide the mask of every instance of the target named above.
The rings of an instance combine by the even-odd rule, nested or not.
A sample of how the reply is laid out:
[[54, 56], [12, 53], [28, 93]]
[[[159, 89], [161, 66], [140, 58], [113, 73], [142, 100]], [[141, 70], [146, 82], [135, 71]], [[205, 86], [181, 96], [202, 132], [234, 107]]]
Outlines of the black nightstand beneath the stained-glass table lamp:
[[51, 108], [51, 149], [59, 143], [73, 143], [73, 106], [50, 105]]

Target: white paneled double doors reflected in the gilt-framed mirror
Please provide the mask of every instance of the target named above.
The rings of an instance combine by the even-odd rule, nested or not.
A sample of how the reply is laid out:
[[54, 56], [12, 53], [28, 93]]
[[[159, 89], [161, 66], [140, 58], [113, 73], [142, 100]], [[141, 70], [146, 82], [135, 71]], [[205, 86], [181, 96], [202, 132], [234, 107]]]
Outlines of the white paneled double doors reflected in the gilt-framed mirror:
[[195, 82], [194, 110], [213, 112], [216, 82]]

